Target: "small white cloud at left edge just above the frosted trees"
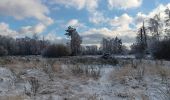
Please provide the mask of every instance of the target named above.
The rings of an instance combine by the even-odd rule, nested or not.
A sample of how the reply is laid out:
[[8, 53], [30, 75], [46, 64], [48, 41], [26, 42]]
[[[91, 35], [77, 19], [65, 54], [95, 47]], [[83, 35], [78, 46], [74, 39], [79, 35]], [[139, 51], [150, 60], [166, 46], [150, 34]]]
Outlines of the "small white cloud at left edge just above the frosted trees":
[[0, 35], [3, 36], [16, 36], [18, 32], [10, 29], [7, 23], [1, 22], [0, 23]]

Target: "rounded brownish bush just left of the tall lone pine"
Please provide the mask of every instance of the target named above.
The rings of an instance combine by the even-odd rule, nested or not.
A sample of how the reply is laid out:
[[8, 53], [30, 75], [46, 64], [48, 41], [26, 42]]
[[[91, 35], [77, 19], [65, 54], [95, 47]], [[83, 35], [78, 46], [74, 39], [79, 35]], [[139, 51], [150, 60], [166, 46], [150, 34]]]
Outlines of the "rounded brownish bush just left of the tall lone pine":
[[47, 48], [45, 48], [42, 52], [43, 57], [49, 58], [68, 56], [69, 54], [70, 54], [69, 49], [62, 44], [50, 45]]

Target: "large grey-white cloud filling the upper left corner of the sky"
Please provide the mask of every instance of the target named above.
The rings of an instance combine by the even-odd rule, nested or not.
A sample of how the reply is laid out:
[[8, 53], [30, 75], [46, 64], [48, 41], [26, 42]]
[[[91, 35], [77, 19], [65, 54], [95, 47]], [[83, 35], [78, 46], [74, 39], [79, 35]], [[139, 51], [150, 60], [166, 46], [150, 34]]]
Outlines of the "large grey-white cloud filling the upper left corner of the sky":
[[38, 24], [23, 26], [18, 31], [10, 30], [9, 26], [6, 25], [8, 32], [1, 34], [32, 35], [42, 33], [53, 23], [53, 19], [47, 16], [49, 13], [50, 11], [43, 4], [43, 0], [0, 0], [0, 15], [11, 16], [17, 20], [25, 20], [26, 18], [38, 20]]

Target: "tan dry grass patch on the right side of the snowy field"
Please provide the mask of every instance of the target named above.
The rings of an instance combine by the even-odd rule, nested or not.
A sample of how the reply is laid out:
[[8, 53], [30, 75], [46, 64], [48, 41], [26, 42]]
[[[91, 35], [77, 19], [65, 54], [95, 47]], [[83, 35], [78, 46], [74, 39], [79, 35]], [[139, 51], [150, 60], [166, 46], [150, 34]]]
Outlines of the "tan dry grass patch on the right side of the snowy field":
[[140, 82], [145, 76], [159, 76], [162, 82], [167, 82], [170, 79], [170, 68], [157, 63], [133, 62], [131, 64], [124, 64], [123, 67], [114, 70], [110, 78], [119, 81], [133, 78]]

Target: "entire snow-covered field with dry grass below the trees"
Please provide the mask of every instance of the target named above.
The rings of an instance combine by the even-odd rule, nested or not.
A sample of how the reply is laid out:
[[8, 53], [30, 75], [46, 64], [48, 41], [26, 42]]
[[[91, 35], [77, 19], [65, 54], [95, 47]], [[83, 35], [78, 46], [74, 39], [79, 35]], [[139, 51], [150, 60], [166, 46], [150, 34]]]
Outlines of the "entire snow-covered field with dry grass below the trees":
[[170, 100], [168, 61], [72, 59], [0, 58], [0, 100]]

